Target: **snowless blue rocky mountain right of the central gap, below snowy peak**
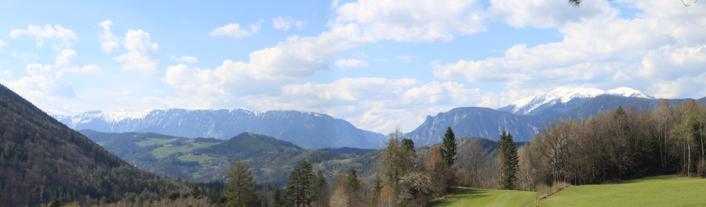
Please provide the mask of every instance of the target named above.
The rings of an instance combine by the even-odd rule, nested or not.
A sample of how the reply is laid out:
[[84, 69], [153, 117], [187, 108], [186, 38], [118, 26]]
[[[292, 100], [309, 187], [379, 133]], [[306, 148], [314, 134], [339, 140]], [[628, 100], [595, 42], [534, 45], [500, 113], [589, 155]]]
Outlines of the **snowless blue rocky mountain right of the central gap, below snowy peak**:
[[542, 123], [527, 116], [498, 112], [484, 107], [460, 107], [436, 116], [427, 116], [421, 126], [405, 136], [416, 146], [441, 143], [446, 127], [451, 126], [457, 138], [485, 137], [496, 140], [502, 131], [510, 131], [515, 141], [529, 141], [542, 128]]

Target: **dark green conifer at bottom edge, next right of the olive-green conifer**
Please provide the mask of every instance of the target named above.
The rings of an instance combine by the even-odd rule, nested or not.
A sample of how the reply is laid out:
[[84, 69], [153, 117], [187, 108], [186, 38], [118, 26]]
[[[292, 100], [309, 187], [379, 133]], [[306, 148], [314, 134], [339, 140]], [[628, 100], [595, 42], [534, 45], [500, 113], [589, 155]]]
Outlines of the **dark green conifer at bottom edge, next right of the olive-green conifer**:
[[311, 184], [314, 175], [311, 167], [310, 158], [299, 163], [299, 166], [292, 170], [289, 174], [289, 182], [285, 193], [289, 194], [287, 206], [311, 206]]

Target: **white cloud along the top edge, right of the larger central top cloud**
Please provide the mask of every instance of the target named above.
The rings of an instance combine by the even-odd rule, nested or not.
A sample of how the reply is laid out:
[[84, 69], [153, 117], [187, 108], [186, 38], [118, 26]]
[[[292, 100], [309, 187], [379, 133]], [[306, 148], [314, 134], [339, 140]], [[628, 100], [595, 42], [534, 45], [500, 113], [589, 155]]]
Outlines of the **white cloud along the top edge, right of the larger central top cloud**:
[[491, 0], [488, 7], [491, 19], [517, 28], [532, 25], [535, 28], [556, 28], [567, 23], [580, 23], [585, 18], [611, 18], [619, 11], [607, 1], [584, 0], [580, 8], [568, 6], [566, 1], [554, 0]]

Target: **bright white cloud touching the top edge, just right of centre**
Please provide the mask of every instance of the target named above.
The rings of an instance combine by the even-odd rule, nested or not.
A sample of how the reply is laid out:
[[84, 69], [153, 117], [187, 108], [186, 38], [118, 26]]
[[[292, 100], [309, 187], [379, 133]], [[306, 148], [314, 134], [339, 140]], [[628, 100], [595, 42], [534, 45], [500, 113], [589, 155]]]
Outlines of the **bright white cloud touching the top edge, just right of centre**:
[[486, 30], [486, 12], [474, 0], [360, 0], [338, 7], [337, 13], [335, 27], [356, 23], [364, 42], [448, 42], [454, 33]]

